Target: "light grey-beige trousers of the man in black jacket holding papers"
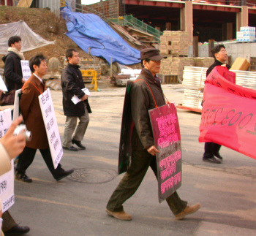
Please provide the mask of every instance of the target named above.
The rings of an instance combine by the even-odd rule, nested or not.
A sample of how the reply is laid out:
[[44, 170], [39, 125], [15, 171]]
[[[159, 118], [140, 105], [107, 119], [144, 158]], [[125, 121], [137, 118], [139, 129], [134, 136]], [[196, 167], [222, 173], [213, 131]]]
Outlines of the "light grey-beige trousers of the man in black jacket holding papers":
[[[78, 116], [78, 117], [67, 116], [66, 123], [65, 123], [65, 130], [64, 130], [64, 140], [62, 144], [64, 147], [69, 148], [70, 146], [72, 146], [71, 140], [77, 140], [77, 141], [83, 140], [84, 134], [86, 133], [86, 129], [90, 121], [87, 108], [85, 110], [86, 110], [86, 113], [82, 116]], [[78, 118], [79, 118], [79, 123], [78, 123], [78, 126], [76, 127]]]

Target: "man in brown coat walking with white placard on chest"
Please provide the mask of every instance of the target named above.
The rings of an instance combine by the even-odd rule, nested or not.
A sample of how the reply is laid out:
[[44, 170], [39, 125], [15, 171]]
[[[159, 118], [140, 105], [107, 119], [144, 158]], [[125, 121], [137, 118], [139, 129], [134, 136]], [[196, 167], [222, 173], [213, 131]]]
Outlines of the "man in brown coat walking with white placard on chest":
[[32, 182], [32, 179], [26, 175], [26, 170], [34, 160], [37, 149], [39, 149], [53, 178], [58, 181], [67, 177], [67, 175], [72, 174], [74, 170], [63, 170], [61, 164], [59, 164], [56, 169], [54, 169], [53, 166], [45, 124], [38, 99], [38, 96], [45, 91], [45, 83], [42, 80], [42, 77], [46, 74], [48, 69], [45, 57], [42, 56], [42, 54], [34, 56], [29, 60], [29, 67], [32, 75], [22, 88], [20, 110], [27, 129], [31, 131], [32, 139], [30, 142], [26, 142], [26, 147], [20, 154], [15, 178], [16, 180], [27, 183]]

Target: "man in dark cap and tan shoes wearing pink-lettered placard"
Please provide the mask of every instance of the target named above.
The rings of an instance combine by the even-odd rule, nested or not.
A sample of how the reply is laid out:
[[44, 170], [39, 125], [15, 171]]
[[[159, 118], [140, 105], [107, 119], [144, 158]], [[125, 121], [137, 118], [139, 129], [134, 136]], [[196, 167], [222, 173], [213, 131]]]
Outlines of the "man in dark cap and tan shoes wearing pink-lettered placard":
[[[156, 153], [159, 151], [154, 145], [148, 110], [155, 108], [155, 102], [159, 107], [165, 104], [160, 80], [156, 75], [159, 73], [163, 56], [159, 55], [159, 50], [155, 48], [146, 48], [141, 50], [140, 58], [143, 69], [130, 89], [130, 108], [134, 123], [132, 139], [129, 140], [132, 142], [132, 161], [124, 178], [110, 197], [106, 209], [109, 216], [123, 221], [132, 219], [131, 215], [124, 212], [123, 203], [135, 194], [148, 167], [151, 167], [157, 176]], [[187, 202], [180, 199], [176, 191], [167, 197], [166, 201], [177, 220], [184, 218], [187, 214], [195, 213], [200, 208], [200, 204], [189, 207]]]

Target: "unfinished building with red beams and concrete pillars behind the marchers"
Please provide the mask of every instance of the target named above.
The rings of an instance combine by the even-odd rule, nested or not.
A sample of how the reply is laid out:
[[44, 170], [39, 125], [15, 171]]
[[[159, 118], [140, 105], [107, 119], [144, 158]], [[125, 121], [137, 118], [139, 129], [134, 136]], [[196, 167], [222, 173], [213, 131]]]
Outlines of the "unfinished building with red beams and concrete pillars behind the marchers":
[[159, 31], [187, 31], [199, 42], [235, 39], [241, 26], [256, 26], [256, 2], [252, 0], [148, 1], [106, 0], [84, 6], [106, 18], [132, 15]]

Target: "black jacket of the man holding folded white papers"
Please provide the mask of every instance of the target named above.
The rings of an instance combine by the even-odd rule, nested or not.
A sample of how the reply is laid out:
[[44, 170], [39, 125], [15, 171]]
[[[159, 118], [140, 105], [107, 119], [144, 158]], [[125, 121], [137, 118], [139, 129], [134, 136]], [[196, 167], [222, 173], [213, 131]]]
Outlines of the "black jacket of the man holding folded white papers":
[[[85, 88], [83, 84], [82, 73], [80, 72], [80, 66], [67, 64], [66, 68], [61, 75], [61, 86], [63, 92], [63, 110], [64, 115], [67, 116], [81, 116], [85, 114], [84, 102], [78, 102], [74, 104], [72, 97], [78, 96], [82, 98], [85, 94], [82, 88]], [[89, 113], [91, 113], [91, 107], [88, 99], [86, 99], [86, 107]]]

